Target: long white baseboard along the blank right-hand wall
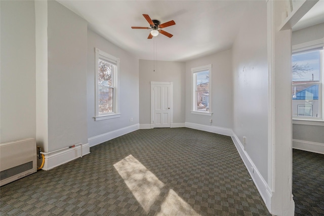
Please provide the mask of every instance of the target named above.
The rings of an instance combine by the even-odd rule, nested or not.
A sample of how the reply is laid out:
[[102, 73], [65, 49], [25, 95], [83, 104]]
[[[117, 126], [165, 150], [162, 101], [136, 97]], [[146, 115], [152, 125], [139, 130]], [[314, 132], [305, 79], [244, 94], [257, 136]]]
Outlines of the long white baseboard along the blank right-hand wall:
[[234, 142], [234, 145], [238, 151], [238, 154], [240, 155], [242, 161], [244, 162], [245, 166], [247, 167], [254, 184], [256, 185], [265, 205], [268, 209], [271, 209], [271, 197], [272, 197], [272, 191], [269, 188], [268, 184], [260, 174], [259, 170], [254, 165], [253, 161], [249, 157], [246, 151], [244, 151], [244, 146], [239, 141], [237, 136], [233, 133], [232, 140]]

